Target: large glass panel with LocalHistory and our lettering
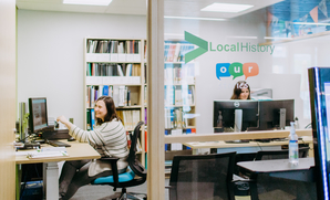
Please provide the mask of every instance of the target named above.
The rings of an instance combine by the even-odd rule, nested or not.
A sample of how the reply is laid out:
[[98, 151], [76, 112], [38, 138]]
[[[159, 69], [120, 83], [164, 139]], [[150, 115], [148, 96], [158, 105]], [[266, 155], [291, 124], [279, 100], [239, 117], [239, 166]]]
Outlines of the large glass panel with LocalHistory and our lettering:
[[[326, 0], [165, 0], [165, 135], [288, 129], [292, 120], [310, 128], [307, 69], [330, 65], [329, 8]], [[165, 150], [168, 160], [219, 152]]]

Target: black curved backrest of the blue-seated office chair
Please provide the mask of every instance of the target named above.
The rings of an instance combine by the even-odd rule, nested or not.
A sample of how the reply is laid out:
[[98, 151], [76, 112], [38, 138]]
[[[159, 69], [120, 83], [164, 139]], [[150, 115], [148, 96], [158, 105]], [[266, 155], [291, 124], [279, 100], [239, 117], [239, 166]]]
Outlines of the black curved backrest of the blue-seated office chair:
[[140, 138], [140, 128], [144, 125], [143, 122], [137, 123], [137, 125], [134, 128], [133, 135], [131, 135], [131, 149], [128, 155], [128, 166], [134, 171], [135, 175], [142, 178], [146, 178], [146, 170], [141, 165], [138, 159], [136, 158], [136, 144], [137, 139]]

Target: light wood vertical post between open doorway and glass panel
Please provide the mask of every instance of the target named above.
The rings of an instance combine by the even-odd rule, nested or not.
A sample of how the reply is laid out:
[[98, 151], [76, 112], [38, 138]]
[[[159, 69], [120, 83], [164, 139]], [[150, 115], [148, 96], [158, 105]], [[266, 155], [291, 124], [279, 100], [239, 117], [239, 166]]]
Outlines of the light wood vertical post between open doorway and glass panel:
[[147, 0], [147, 199], [164, 200], [164, 0]]

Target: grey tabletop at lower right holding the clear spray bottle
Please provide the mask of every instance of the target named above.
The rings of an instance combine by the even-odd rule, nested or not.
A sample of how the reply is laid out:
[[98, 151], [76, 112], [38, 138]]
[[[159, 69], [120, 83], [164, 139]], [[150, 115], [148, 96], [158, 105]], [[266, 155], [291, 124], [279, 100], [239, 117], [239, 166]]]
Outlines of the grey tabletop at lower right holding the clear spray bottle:
[[291, 166], [289, 164], [289, 159], [240, 161], [240, 162], [237, 162], [237, 166], [256, 173], [297, 171], [297, 170], [308, 170], [311, 167], [313, 167], [314, 158], [299, 158], [299, 164], [297, 166]]

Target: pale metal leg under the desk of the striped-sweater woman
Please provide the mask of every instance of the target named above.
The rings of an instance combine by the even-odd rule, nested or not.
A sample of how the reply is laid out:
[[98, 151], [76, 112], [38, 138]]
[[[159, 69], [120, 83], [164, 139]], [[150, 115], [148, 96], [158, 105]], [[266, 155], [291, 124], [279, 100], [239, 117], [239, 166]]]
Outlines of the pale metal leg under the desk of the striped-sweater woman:
[[58, 162], [43, 164], [43, 197], [47, 200], [59, 200]]

